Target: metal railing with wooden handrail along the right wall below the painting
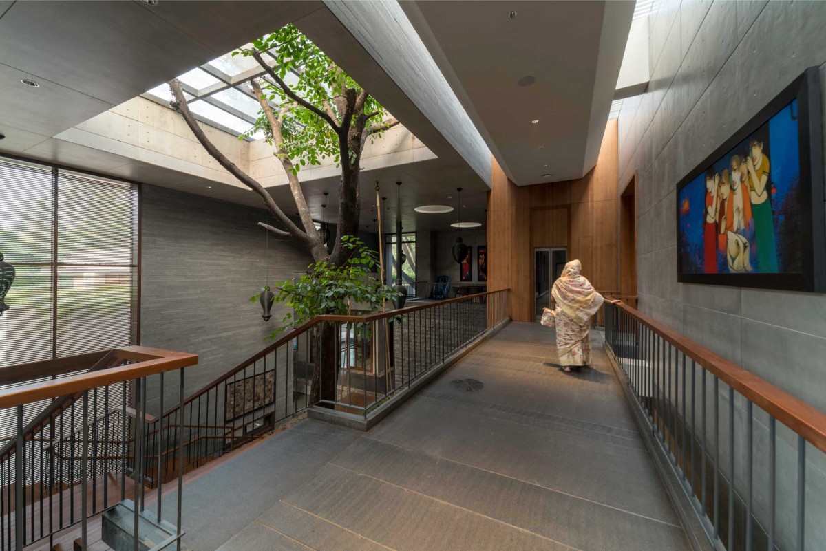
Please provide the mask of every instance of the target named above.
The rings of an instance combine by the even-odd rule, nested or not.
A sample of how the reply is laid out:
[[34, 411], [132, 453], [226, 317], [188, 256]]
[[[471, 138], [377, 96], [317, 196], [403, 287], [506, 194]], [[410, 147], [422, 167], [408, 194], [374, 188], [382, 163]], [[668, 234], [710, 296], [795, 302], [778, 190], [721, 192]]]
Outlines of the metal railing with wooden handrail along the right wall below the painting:
[[710, 543], [826, 549], [826, 415], [619, 301], [605, 323]]

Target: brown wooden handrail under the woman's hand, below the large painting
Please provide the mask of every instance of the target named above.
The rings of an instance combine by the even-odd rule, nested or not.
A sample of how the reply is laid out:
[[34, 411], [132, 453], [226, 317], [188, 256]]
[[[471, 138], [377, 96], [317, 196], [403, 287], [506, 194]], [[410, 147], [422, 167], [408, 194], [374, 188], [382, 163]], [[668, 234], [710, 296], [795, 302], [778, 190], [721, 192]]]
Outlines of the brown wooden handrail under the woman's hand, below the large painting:
[[826, 414], [627, 304], [615, 302], [614, 305], [826, 453]]

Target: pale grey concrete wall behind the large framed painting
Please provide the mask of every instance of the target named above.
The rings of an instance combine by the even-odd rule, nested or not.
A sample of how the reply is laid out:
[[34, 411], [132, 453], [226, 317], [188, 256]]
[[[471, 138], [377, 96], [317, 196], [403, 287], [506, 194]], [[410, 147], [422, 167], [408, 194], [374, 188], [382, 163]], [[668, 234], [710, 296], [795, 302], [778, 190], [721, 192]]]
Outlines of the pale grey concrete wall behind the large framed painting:
[[[619, 115], [619, 189], [638, 174], [639, 308], [826, 412], [826, 295], [678, 284], [675, 220], [676, 183], [686, 172], [805, 68], [819, 66], [826, 82], [826, 2], [664, 0], [649, 25], [651, 83]], [[728, 442], [724, 384], [719, 400], [720, 441]], [[739, 492], [745, 404], [736, 398], [734, 405]], [[762, 492], [755, 511], [765, 519], [767, 415], [757, 407], [754, 431], [755, 488]], [[781, 549], [790, 549], [796, 442], [786, 427], [777, 435], [778, 537]], [[813, 446], [808, 451], [806, 541], [819, 548], [826, 541], [826, 461]], [[728, 446], [720, 455], [726, 465]]]

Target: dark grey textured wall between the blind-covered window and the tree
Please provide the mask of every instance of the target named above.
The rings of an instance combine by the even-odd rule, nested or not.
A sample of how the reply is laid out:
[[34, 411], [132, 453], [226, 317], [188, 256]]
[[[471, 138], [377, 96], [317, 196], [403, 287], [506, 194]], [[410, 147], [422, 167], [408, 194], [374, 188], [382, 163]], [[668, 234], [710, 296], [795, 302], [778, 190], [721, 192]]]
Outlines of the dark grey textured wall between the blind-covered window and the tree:
[[[140, 344], [196, 353], [187, 394], [255, 352], [285, 308], [264, 322], [249, 298], [267, 279], [265, 211], [201, 195], [142, 187]], [[292, 278], [311, 257], [288, 238], [269, 238], [269, 281]], [[177, 386], [166, 400], [177, 399]], [[150, 395], [151, 398], [151, 395]]]

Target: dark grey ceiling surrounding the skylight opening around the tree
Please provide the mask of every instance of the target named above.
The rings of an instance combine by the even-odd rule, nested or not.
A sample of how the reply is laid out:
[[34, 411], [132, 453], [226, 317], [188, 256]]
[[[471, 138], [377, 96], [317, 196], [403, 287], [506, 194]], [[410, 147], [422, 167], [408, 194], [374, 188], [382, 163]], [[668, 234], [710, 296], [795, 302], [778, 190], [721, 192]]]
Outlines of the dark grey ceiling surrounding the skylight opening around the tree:
[[[422, 215], [412, 208], [444, 203], [446, 191], [458, 186], [467, 190], [465, 204], [483, 221], [485, 182], [321, 2], [161, 0], [150, 6], [140, 1], [0, 0], [0, 132], [6, 135], [0, 152], [258, 206], [251, 191], [54, 136], [288, 22], [296, 23], [439, 157], [363, 172], [362, 225], [375, 218], [368, 214], [375, 180], [382, 181], [382, 188], [395, 188], [388, 184], [397, 180], [405, 183], [402, 219], [407, 229], [448, 229], [457, 213]], [[40, 87], [27, 87], [20, 82], [24, 78]], [[335, 195], [338, 187], [336, 178], [327, 180], [306, 186], [318, 219], [322, 188]], [[271, 192], [284, 210], [292, 210], [286, 186]], [[395, 224], [395, 189], [390, 196], [394, 205], [386, 224]], [[334, 209], [328, 207], [327, 214], [335, 220]]]

